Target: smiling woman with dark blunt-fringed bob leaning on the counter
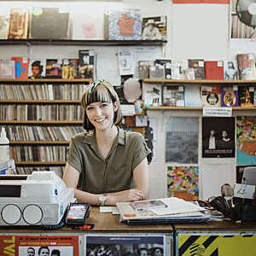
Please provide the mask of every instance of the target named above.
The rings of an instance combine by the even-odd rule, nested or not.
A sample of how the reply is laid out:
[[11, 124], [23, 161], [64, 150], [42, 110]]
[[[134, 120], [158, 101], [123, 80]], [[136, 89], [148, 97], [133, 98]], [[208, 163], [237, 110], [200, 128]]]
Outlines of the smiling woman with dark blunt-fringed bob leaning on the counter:
[[63, 180], [79, 202], [115, 205], [148, 199], [148, 154], [143, 136], [119, 128], [122, 113], [113, 86], [90, 84], [81, 100], [85, 132], [72, 138]]

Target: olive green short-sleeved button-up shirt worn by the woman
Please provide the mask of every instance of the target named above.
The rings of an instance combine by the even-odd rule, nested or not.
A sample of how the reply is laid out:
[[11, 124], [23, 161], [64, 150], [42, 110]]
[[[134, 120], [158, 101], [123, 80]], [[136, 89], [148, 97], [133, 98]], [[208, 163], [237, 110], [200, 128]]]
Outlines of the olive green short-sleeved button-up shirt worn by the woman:
[[150, 154], [142, 134], [119, 128], [106, 159], [100, 154], [95, 133], [74, 136], [67, 162], [79, 173], [79, 189], [93, 194], [131, 189], [134, 169]]

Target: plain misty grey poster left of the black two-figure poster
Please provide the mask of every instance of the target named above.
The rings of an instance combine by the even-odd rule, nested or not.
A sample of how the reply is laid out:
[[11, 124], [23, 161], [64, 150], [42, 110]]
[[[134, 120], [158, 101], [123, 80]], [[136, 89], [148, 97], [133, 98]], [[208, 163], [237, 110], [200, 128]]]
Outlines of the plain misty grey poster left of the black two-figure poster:
[[166, 163], [198, 163], [198, 118], [166, 117]]

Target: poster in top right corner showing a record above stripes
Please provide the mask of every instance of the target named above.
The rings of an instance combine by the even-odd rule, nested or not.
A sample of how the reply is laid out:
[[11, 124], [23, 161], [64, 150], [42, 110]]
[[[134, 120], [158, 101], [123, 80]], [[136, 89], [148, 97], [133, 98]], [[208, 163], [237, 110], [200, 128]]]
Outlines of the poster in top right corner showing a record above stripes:
[[256, 13], [253, 11], [255, 3], [254, 0], [231, 0], [231, 38], [256, 40]]

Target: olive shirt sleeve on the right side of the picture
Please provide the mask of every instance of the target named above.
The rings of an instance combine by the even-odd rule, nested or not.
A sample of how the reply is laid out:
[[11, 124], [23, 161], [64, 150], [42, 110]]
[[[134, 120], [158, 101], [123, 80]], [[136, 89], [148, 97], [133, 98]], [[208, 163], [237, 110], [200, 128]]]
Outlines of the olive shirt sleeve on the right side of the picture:
[[148, 148], [145, 139], [142, 134], [137, 134], [137, 145], [134, 148], [135, 153], [132, 163], [132, 171], [147, 157], [148, 164], [151, 161], [150, 155], [152, 154], [151, 150]]

